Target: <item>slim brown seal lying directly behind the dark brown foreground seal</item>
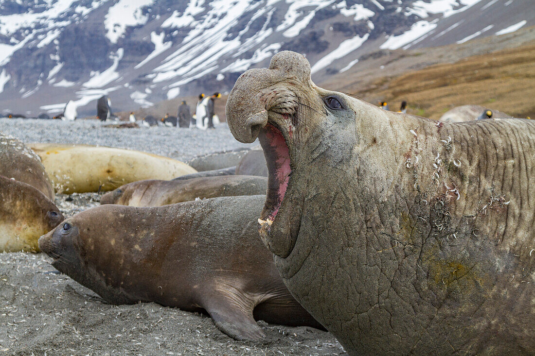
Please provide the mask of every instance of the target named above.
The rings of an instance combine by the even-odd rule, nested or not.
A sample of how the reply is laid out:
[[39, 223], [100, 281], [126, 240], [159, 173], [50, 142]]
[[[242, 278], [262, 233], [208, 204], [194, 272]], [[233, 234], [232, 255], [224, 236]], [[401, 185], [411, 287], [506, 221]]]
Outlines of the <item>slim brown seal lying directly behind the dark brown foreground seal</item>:
[[101, 204], [161, 206], [196, 198], [265, 194], [268, 179], [249, 175], [201, 177], [184, 181], [146, 180], [122, 185], [101, 197]]

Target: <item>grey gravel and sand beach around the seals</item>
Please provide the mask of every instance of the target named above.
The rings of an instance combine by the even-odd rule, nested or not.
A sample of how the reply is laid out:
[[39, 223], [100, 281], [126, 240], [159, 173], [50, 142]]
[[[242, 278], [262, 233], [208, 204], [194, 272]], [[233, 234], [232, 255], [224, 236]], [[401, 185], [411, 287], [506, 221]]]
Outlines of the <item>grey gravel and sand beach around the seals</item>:
[[[0, 132], [24, 143], [83, 143], [134, 149], [187, 161], [251, 145], [215, 130], [105, 128], [96, 120], [0, 119]], [[254, 144], [253, 144], [254, 145]], [[66, 217], [99, 204], [97, 193], [58, 194]], [[205, 315], [154, 303], [113, 306], [70, 277], [43, 253], [0, 253], [0, 354], [6, 355], [339, 355], [328, 332], [259, 325], [261, 343], [239, 342]]]

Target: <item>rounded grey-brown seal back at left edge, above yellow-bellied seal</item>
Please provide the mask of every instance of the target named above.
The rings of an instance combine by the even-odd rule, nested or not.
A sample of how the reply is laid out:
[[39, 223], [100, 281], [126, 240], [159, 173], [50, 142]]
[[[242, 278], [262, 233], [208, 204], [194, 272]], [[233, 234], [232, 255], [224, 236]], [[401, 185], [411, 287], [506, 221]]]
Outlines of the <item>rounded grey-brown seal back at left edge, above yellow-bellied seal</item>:
[[0, 134], [0, 175], [14, 178], [54, 198], [52, 183], [41, 159], [17, 138]]

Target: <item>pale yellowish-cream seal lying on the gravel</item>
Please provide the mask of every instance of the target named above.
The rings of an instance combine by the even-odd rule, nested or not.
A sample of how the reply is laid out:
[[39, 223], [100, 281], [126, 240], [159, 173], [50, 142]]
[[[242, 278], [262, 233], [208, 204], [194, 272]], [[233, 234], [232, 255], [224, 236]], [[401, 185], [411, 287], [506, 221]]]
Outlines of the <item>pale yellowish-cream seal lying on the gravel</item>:
[[57, 192], [113, 190], [145, 179], [170, 180], [197, 172], [156, 154], [90, 145], [29, 144], [43, 162]]

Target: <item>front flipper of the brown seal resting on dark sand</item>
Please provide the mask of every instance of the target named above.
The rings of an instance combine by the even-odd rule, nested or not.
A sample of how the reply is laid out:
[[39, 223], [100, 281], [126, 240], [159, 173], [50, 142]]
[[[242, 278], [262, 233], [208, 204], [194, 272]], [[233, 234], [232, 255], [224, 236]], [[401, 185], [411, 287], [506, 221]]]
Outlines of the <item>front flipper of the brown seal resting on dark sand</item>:
[[253, 318], [255, 303], [237, 291], [212, 296], [204, 309], [216, 327], [236, 340], [257, 341], [265, 337], [264, 331]]

